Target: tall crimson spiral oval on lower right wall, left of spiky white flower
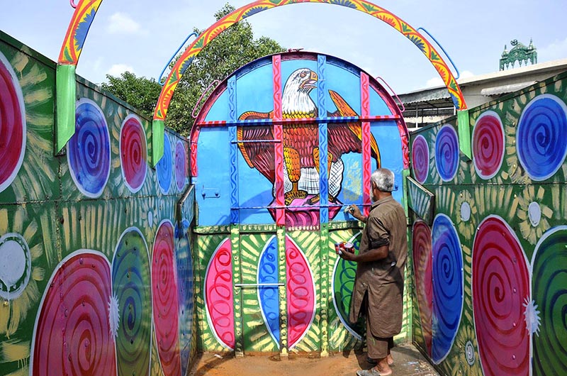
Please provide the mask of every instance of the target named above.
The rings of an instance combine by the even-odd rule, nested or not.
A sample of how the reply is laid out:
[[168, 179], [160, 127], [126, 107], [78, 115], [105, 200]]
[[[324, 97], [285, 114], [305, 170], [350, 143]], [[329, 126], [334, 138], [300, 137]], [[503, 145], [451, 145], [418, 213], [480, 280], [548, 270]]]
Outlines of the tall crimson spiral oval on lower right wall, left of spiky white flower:
[[512, 228], [498, 216], [483, 220], [473, 243], [473, 312], [485, 376], [528, 375], [529, 271]]

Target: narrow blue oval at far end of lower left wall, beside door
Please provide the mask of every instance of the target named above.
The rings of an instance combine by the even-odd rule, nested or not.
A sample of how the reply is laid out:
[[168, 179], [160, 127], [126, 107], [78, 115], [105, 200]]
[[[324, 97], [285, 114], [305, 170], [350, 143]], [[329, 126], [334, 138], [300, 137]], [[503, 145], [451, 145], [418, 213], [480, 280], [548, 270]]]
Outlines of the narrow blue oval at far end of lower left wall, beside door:
[[186, 375], [191, 357], [193, 338], [193, 258], [189, 237], [184, 232], [175, 243], [177, 293], [179, 297], [179, 342], [181, 346], [181, 375]]

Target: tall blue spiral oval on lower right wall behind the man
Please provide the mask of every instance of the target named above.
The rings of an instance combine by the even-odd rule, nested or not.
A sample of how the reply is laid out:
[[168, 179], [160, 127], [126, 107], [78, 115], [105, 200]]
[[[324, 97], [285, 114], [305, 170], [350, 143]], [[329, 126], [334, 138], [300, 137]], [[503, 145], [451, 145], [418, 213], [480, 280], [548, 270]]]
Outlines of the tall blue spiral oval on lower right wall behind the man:
[[463, 254], [456, 229], [438, 214], [432, 230], [432, 360], [440, 363], [451, 350], [463, 310]]

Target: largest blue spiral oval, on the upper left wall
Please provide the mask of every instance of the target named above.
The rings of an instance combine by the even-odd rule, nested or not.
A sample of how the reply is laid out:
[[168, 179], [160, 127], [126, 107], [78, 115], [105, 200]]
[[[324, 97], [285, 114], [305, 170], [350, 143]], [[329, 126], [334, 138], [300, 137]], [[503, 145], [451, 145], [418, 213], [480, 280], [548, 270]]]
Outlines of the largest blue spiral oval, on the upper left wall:
[[75, 109], [75, 133], [67, 143], [67, 162], [79, 191], [99, 197], [111, 171], [111, 140], [99, 106], [81, 99]]

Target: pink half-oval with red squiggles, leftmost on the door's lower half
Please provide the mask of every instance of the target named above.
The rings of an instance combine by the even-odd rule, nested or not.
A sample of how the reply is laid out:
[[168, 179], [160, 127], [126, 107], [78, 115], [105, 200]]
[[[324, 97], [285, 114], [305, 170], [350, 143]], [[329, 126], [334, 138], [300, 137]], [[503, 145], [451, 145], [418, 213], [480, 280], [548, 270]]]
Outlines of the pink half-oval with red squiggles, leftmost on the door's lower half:
[[207, 319], [217, 340], [235, 348], [234, 301], [232, 300], [232, 247], [223, 240], [208, 263], [205, 275]]

